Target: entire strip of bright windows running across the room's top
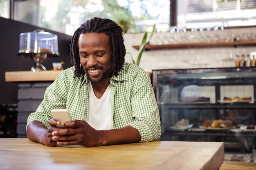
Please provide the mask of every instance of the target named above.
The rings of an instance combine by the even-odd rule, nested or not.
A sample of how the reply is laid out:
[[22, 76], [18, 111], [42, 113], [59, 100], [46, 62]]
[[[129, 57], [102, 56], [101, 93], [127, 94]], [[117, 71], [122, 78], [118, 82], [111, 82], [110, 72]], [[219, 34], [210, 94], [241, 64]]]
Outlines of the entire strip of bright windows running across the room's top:
[[[177, 4], [175, 10], [170, 4]], [[170, 13], [181, 28], [250, 26], [256, 25], [256, 0], [0, 0], [0, 16], [68, 35], [94, 16], [112, 19], [129, 32], [155, 23], [168, 30]]]

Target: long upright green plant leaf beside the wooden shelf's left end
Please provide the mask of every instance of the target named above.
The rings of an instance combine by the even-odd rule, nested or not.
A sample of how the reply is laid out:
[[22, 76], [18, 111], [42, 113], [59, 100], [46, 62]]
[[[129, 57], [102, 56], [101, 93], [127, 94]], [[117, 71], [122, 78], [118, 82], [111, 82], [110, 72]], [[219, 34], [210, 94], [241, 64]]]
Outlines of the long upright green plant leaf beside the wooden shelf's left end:
[[152, 38], [153, 34], [155, 33], [155, 27], [156, 27], [156, 25], [154, 24], [153, 29], [150, 32], [149, 36], [148, 36], [147, 32], [144, 34], [143, 39], [141, 41], [141, 44], [139, 46], [139, 54], [138, 54], [138, 57], [137, 57], [137, 61], [135, 62], [135, 60], [132, 58], [132, 63], [133, 64], [136, 64], [137, 66], [139, 66], [139, 63], [140, 63], [140, 60], [141, 60], [141, 55], [145, 51], [146, 45], [149, 43], [150, 39]]

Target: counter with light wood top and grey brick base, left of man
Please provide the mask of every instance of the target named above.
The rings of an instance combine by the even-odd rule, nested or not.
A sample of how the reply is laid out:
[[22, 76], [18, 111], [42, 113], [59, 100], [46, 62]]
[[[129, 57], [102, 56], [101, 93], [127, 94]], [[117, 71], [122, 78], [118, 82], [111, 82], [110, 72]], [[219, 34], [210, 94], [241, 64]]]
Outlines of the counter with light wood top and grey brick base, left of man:
[[[44, 98], [45, 89], [54, 82], [60, 71], [9, 71], [5, 81], [18, 84], [17, 135], [27, 137], [27, 117], [36, 111]], [[1, 168], [0, 168], [1, 169]]]

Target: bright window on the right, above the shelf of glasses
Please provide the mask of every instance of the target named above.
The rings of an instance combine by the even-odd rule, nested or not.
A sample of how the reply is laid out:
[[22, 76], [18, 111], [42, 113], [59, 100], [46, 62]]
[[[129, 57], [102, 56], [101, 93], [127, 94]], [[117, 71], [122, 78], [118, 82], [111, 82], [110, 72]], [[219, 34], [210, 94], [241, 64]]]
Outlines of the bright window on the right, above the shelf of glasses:
[[256, 0], [178, 0], [180, 27], [256, 25]]

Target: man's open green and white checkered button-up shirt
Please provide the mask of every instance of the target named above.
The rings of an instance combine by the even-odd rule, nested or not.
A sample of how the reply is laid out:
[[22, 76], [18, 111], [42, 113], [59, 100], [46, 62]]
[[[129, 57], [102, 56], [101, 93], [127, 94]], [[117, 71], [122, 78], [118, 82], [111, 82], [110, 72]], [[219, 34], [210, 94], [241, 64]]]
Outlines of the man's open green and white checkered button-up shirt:
[[[148, 75], [138, 66], [125, 63], [112, 84], [110, 112], [115, 129], [125, 126], [136, 128], [141, 142], [157, 140], [161, 135], [160, 117], [153, 88]], [[45, 90], [45, 97], [36, 112], [31, 113], [27, 125], [33, 120], [47, 128], [52, 109], [66, 108], [73, 120], [87, 120], [89, 110], [89, 81], [85, 75], [74, 77], [74, 67], [60, 73]]]

